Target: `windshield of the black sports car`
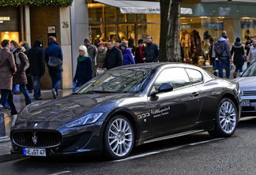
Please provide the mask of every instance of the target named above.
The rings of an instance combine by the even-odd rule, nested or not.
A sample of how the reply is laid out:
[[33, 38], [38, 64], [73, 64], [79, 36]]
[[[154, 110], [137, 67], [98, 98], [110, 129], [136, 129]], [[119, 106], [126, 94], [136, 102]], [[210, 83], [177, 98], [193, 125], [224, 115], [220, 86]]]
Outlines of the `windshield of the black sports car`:
[[138, 93], [149, 84], [155, 70], [110, 70], [96, 76], [73, 94]]

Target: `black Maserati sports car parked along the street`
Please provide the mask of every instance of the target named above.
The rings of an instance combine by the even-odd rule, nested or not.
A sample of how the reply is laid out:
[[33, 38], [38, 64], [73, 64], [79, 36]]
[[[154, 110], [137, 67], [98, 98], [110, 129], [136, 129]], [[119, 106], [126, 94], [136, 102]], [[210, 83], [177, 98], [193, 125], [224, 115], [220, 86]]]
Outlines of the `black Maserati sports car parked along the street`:
[[105, 153], [126, 158], [134, 146], [196, 132], [232, 136], [241, 114], [235, 80], [194, 65], [148, 63], [111, 69], [72, 95], [36, 102], [17, 116], [12, 153]]

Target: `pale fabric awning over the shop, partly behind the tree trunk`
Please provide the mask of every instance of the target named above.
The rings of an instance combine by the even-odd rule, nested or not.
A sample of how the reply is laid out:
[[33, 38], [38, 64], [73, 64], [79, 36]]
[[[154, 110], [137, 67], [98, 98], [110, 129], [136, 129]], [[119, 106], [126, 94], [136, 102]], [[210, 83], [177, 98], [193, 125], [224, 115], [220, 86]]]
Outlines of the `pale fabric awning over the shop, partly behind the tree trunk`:
[[[96, 0], [107, 6], [115, 6], [121, 13], [157, 13], [160, 14], [160, 2], [142, 2], [142, 1], [115, 1], [115, 0]], [[181, 8], [181, 14], [192, 14], [192, 9]]]

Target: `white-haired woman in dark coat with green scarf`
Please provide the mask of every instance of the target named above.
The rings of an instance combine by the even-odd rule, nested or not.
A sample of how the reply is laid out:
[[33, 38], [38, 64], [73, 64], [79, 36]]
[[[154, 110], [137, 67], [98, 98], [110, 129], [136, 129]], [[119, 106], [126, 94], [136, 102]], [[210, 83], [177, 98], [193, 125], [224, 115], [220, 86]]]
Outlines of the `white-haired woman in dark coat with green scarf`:
[[73, 84], [75, 84], [75, 87], [81, 87], [81, 85], [93, 78], [92, 58], [88, 56], [87, 48], [85, 46], [80, 46], [78, 50], [79, 56], [77, 58], [77, 69], [76, 74], [73, 77]]

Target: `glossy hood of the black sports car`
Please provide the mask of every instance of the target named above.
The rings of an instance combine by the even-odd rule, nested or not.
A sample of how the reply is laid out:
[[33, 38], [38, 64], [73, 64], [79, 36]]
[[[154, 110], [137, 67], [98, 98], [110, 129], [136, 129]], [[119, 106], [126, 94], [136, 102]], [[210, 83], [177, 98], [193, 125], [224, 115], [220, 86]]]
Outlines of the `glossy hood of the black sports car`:
[[[100, 106], [104, 102], [132, 97], [131, 94], [83, 94], [68, 95], [57, 100], [36, 102], [24, 108], [17, 122], [64, 122], [85, 114], [88, 110]], [[104, 112], [104, 111], [100, 111]]]

